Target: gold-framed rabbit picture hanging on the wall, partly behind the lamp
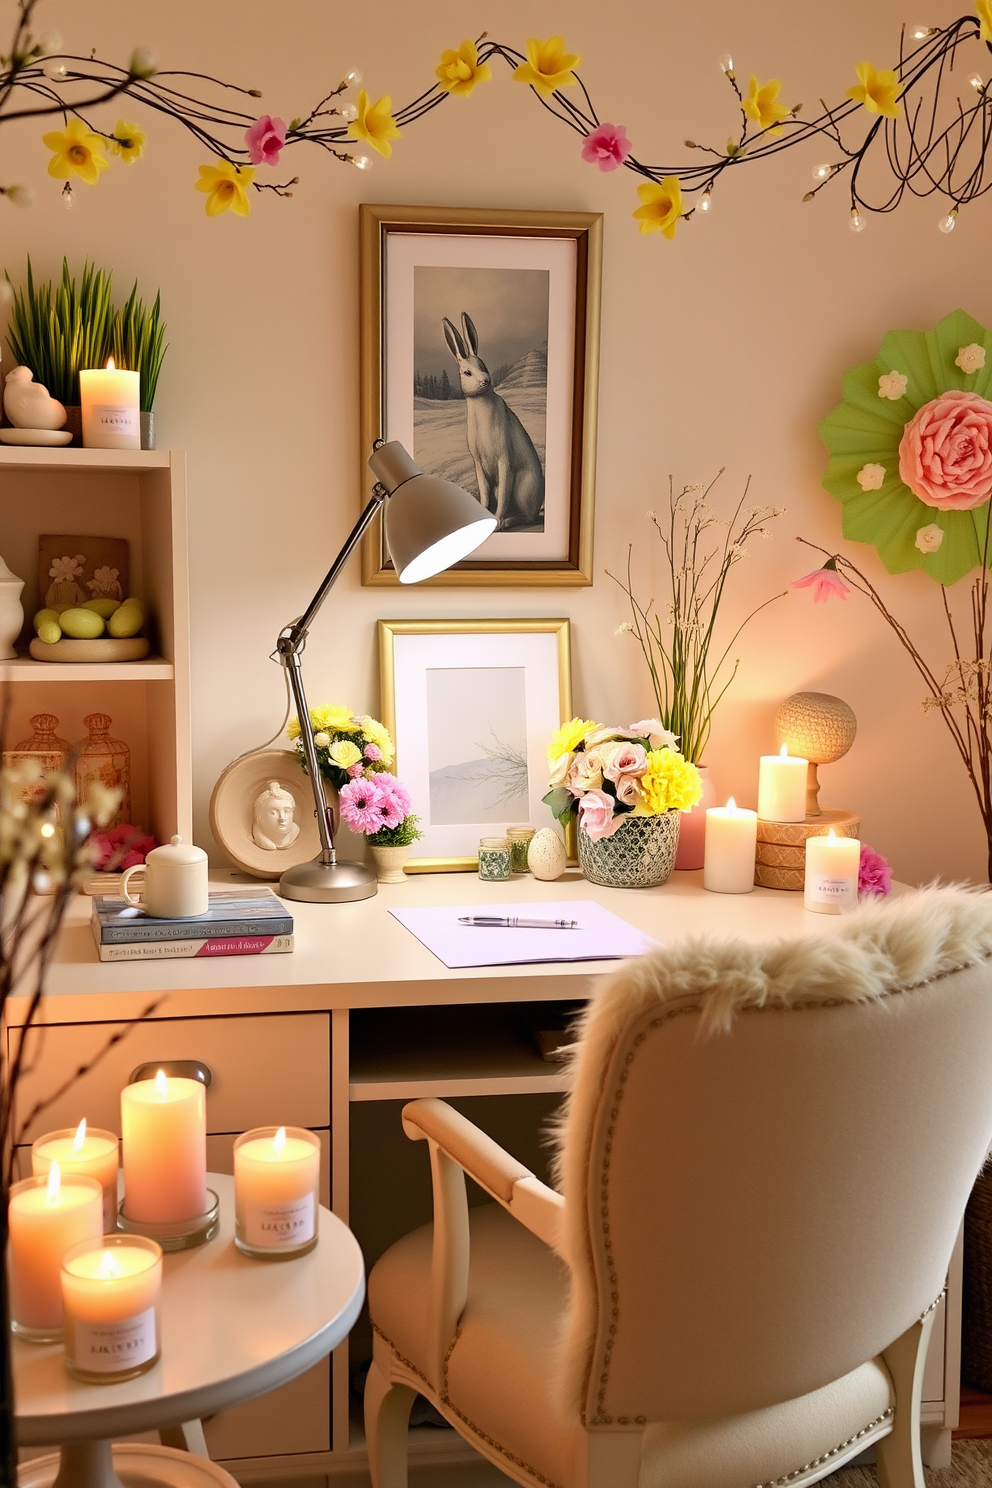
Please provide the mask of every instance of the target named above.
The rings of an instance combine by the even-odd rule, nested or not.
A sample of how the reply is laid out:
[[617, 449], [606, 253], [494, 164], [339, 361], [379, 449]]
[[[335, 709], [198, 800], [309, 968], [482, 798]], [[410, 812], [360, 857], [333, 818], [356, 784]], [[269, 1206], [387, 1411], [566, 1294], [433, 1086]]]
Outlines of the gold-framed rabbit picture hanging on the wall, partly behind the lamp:
[[[592, 583], [602, 217], [363, 205], [360, 228], [361, 448], [399, 439], [497, 518], [425, 582]], [[381, 522], [363, 582], [399, 582]]]

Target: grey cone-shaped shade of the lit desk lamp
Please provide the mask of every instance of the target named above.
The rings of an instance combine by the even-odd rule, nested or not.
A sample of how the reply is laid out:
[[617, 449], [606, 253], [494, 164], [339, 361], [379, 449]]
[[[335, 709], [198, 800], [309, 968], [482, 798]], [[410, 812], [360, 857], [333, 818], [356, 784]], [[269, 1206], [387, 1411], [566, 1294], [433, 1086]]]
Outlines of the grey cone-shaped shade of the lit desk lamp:
[[473, 496], [424, 475], [397, 440], [376, 449], [369, 469], [390, 497], [385, 542], [400, 583], [419, 583], [451, 568], [495, 530], [495, 516]]

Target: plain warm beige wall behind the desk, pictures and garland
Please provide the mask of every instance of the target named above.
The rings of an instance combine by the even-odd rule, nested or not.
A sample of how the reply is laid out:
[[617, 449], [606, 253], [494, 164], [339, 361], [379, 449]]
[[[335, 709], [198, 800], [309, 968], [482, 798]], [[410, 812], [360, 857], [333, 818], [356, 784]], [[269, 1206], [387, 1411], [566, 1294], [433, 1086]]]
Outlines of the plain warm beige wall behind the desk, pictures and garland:
[[[935, 6], [938, 21], [956, 13], [947, 0]], [[904, 16], [901, 0], [611, 9], [598, 0], [132, 0], [123, 9], [45, 0], [40, 19], [80, 52], [95, 46], [123, 62], [143, 43], [164, 68], [259, 86], [259, 107], [287, 119], [351, 65], [373, 95], [400, 103], [430, 85], [440, 49], [464, 36], [488, 27], [522, 46], [562, 30], [583, 54], [601, 118], [626, 124], [641, 158], [680, 164], [684, 137], [720, 146], [736, 131], [715, 67], [724, 48], [745, 79], [751, 70], [781, 76], [785, 101], [802, 100], [809, 113], [819, 97], [842, 97], [857, 61], [894, 58]], [[811, 144], [724, 179], [709, 217], [674, 243], [641, 238], [631, 220], [635, 179], [584, 165], [577, 137], [500, 68], [471, 98], [412, 126], [369, 174], [294, 150], [294, 199], [256, 196], [247, 222], [205, 217], [192, 190], [205, 161], [195, 141], [147, 110], [128, 107], [125, 118], [147, 126], [146, 158], [115, 167], [97, 189], [79, 186], [71, 214], [45, 174], [40, 128], [3, 131], [1, 179], [30, 180], [39, 202], [30, 211], [0, 202], [1, 263], [16, 275], [30, 251], [36, 269], [57, 272], [62, 253], [74, 265], [89, 254], [123, 287], [137, 275], [146, 293], [162, 289], [171, 350], [156, 414], [159, 443], [189, 452], [202, 842], [217, 774], [281, 717], [281, 676], [266, 659], [277, 631], [309, 598], [357, 513], [360, 201], [602, 211], [605, 265], [595, 585], [394, 594], [363, 589], [355, 564], [306, 655], [311, 699], [355, 710], [378, 707], [378, 616], [567, 613], [577, 711], [610, 722], [644, 714], [647, 674], [631, 638], [613, 635], [623, 597], [602, 570], [634, 540], [644, 591], [651, 571], [660, 577], [644, 512], [663, 501], [668, 473], [703, 481], [726, 466], [727, 500], [751, 473], [757, 501], [788, 509], [775, 540], [735, 574], [727, 620], [739, 618], [814, 565], [796, 534], [840, 546], [840, 507], [819, 485], [817, 423], [839, 400], [845, 368], [870, 360], [891, 327], [925, 329], [958, 305], [985, 323], [992, 315], [988, 204], [962, 213], [952, 237], [937, 232], [935, 201], [872, 219], [855, 237], [842, 190], [802, 204], [812, 165], [830, 153]], [[873, 549], [852, 557], [918, 637], [937, 637], [938, 591], [928, 579], [886, 577]], [[940, 719], [924, 716], [909, 661], [864, 603], [814, 607], [793, 594], [739, 650], [709, 756], [721, 795], [754, 802], [757, 756], [773, 744], [784, 696], [836, 692], [855, 708], [860, 734], [848, 759], [822, 771], [822, 799], [858, 809], [863, 836], [906, 879], [986, 878], [961, 765]], [[931, 655], [944, 655], [938, 638]]]

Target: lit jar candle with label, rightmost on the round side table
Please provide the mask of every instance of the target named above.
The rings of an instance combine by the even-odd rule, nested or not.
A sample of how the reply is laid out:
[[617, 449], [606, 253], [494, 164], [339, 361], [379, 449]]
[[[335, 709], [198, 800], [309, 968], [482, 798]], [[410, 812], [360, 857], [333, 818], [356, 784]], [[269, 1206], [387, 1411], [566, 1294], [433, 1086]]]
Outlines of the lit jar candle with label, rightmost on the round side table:
[[235, 1244], [263, 1260], [317, 1244], [320, 1138], [300, 1126], [259, 1126], [233, 1144]]

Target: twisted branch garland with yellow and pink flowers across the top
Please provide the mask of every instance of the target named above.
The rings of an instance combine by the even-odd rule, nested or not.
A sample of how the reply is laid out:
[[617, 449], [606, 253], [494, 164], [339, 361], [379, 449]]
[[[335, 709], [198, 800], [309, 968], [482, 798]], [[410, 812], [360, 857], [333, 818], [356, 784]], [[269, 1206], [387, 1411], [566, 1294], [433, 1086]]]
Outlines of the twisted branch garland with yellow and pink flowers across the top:
[[[790, 107], [779, 101], [782, 82], [778, 77], [760, 82], [751, 74], [744, 94], [733, 60], [724, 54], [720, 67], [735, 92], [741, 128], [738, 137], [730, 137], [723, 149], [686, 140], [689, 149], [708, 156], [700, 165], [647, 165], [640, 161], [626, 128], [599, 119], [577, 71], [582, 58], [565, 49], [561, 36], [547, 40], [531, 37], [526, 54], [489, 40], [485, 31], [476, 42], [464, 40], [458, 48], [442, 52], [433, 86], [396, 113], [388, 94], [372, 101], [364, 88], [354, 103], [344, 101], [342, 95], [361, 82], [360, 73], [351, 71], [309, 113], [287, 125], [284, 119], [268, 113], [254, 118], [171, 86], [165, 79], [190, 79], [193, 83], [208, 83], [211, 89], [262, 97], [256, 88], [238, 88], [202, 73], [161, 73], [144, 49], [132, 54], [126, 68], [95, 57], [61, 54], [58, 37], [31, 37], [30, 21], [36, 4], [37, 0], [19, 0], [10, 54], [0, 58], [0, 124], [62, 115], [64, 128], [46, 134], [45, 143], [52, 150], [49, 174], [65, 182], [65, 205], [73, 202], [73, 177], [97, 185], [109, 165], [107, 152], [125, 164], [140, 159], [144, 152], [147, 138], [135, 124], [119, 119], [113, 134], [86, 124], [85, 116], [91, 109], [117, 95], [126, 95], [171, 118], [207, 146], [217, 159], [216, 164], [201, 165], [199, 180], [195, 182], [195, 189], [207, 196], [207, 214], [220, 216], [231, 210], [245, 217], [251, 210], [250, 189], [272, 190], [280, 196], [293, 195], [290, 187], [299, 177], [281, 183], [256, 180], [257, 168], [277, 167], [289, 146], [308, 141], [344, 164], [367, 170], [372, 158], [355, 153], [352, 141], [369, 144], [388, 159], [393, 140], [400, 138], [406, 126], [448, 98], [467, 98], [477, 85], [489, 82], [489, 64], [497, 58], [512, 68], [516, 82], [531, 88], [541, 107], [582, 135], [584, 161], [602, 171], [623, 167], [644, 177], [638, 186], [641, 205], [634, 211], [642, 234], [660, 232], [665, 238], [674, 238], [680, 220], [709, 210], [714, 186], [726, 170], [754, 164], [821, 135], [836, 147], [839, 158], [815, 167], [817, 186], [805, 193], [803, 201], [811, 201], [824, 186], [846, 173], [851, 228], [855, 232], [864, 228], [863, 210], [894, 211], [907, 190], [916, 196], [941, 193], [949, 210], [938, 226], [941, 232], [950, 232], [959, 208], [992, 186], [992, 180], [985, 180], [986, 156], [992, 144], [992, 85], [973, 71], [968, 85], [974, 97], [967, 103], [956, 98], [956, 109], [946, 124], [940, 110], [958, 49], [977, 42], [992, 51], [992, 0], [974, 0], [974, 15], [959, 16], [946, 27], [913, 27], [909, 36], [918, 45], [909, 52], [903, 30], [895, 67], [876, 68], [872, 62], [858, 62], [858, 80], [848, 88], [845, 101], [833, 107], [824, 103], [822, 112], [811, 121], [799, 119], [802, 104]], [[61, 92], [65, 85], [80, 83], [95, 85], [101, 91], [74, 100]], [[577, 88], [582, 103], [570, 98], [564, 92], [567, 88]], [[25, 89], [40, 103], [31, 109], [7, 109], [15, 89]], [[860, 118], [861, 110], [869, 116], [867, 132], [860, 143], [846, 144], [840, 125], [855, 115]], [[891, 182], [875, 201], [867, 199], [861, 185], [861, 171], [870, 156], [885, 158]], [[28, 205], [33, 199], [28, 186], [0, 186], [0, 195], [21, 205]], [[687, 199], [692, 201], [690, 205]]]

